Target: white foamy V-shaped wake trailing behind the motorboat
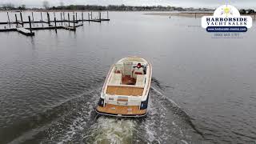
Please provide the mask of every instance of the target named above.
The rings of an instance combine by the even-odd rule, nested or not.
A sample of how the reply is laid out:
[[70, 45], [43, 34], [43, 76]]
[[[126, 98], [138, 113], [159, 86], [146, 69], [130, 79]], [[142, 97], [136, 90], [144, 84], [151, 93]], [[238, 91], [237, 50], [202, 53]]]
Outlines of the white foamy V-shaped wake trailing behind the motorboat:
[[98, 116], [101, 87], [48, 111], [48, 121], [13, 142], [20, 143], [202, 143], [189, 115], [161, 93], [153, 79], [145, 118]]

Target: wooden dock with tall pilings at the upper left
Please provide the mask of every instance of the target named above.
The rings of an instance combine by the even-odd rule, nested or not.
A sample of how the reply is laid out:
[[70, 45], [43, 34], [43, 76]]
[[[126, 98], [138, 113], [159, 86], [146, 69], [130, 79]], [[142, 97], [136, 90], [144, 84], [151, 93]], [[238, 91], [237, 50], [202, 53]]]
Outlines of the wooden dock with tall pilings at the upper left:
[[[10, 22], [9, 13], [7, 12], [7, 22], [0, 22], [0, 25], [6, 25], [4, 26], [4, 29], [0, 29], [0, 32], [8, 32], [8, 31], [18, 31], [21, 34], [27, 35], [27, 36], [34, 36], [34, 32], [32, 30], [55, 30], [57, 33], [58, 29], [64, 29], [64, 30], [72, 30], [75, 31], [77, 27], [83, 26], [84, 22], [105, 22], [110, 21], [109, 14], [107, 12], [107, 18], [102, 18], [101, 12], [98, 12], [98, 17], [93, 18], [93, 12], [91, 11], [88, 13], [88, 19], [84, 19], [84, 12], [81, 12], [82, 18], [78, 19], [78, 14], [73, 13], [73, 18], [71, 18], [70, 13], [68, 13], [68, 18], [65, 18], [65, 12], [60, 12], [60, 19], [57, 19], [54, 13], [54, 20], [50, 20], [50, 14], [46, 12], [47, 20], [44, 21], [42, 18], [42, 12], [41, 13], [41, 19], [39, 21], [34, 21], [34, 14], [31, 12], [31, 16], [28, 16], [29, 21], [23, 21], [22, 18], [22, 12], [18, 13], [20, 15], [20, 19], [18, 19], [18, 14], [15, 14], [15, 21]], [[31, 17], [31, 18], [30, 18]], [[42, 26], [32, 26], [35, 23], [42, 24]], [[24, 24], [29, 24], [29, 27], [25, 27]], [[46, 24], [47, 26], [43, 26], [43, 24]], [[66, 24], [66, 26], [65, 26]], [[12, 28], [15, 27], [16, 28]], [[27, 25], [26, 25], [27, 26]], [[8, 28], [7, 28], [8, 27]]]

